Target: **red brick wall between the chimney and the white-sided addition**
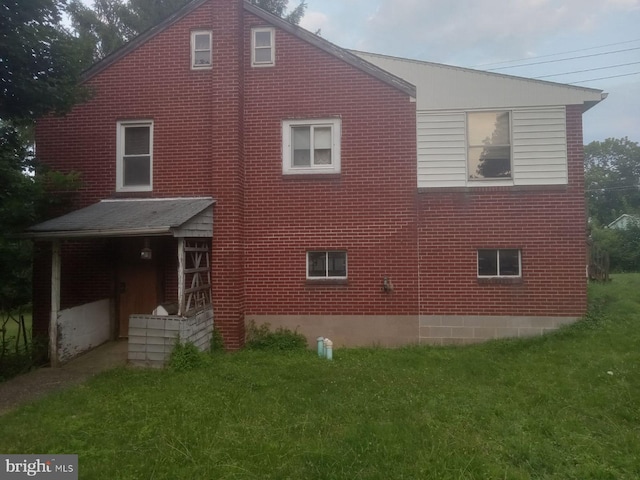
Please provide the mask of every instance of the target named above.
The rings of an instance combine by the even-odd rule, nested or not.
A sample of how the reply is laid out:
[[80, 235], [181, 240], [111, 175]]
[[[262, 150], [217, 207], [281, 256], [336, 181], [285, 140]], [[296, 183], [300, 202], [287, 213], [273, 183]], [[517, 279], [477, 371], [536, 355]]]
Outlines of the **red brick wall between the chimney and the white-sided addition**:
[[[284, 31], [275, 45], [275, 67], [244, 58], [247, 314], [417, 313], [415, 103]], [[328, 117], [341, 173], [283, 175], [282, 121]], [[307, 285], [306, 252], [330, 249], [348, 252], [348, 284]]]

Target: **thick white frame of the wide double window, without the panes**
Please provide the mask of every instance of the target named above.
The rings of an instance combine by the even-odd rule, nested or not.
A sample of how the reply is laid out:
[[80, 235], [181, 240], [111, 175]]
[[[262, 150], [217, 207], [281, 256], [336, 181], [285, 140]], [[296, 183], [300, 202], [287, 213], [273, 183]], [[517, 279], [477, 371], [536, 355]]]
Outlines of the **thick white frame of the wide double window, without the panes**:
[[[284, 175], [340, 173], [341, 124], [342, 122], [339, 118], [284, 120], [282, 122], [282, 173]], [[331, 164], [314, 165], [312, 155], [309, 166], [293, 165], [293, 136], [291, 132], [294, 127], [307, 126], [311, 130], [318, 127], [331, 128]], [[311, 138], [310, 150], [313, 152], [313, 135], [311, 135]]]

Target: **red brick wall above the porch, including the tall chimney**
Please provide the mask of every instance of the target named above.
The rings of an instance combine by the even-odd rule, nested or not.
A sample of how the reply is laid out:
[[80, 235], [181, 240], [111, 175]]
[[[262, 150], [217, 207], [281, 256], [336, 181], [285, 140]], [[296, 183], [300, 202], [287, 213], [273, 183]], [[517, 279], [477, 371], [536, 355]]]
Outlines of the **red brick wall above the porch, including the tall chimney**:
[[[37, 128], [39, 158], [52, 168], [82, 173], [76, 208], [127, 196], [217, 200], [214, 308], [232, 347], [243, 335], [241, 10], [239, 0], [207, 2], [92, 77], [90, 101], [64, 118], [42, 119]], [[213, 31], [211, 70], [190, 68], [190, 32], [196, 29]], [[128, 119], [154, 121], [148, 194], [115, 192], [116, 125]], [[46, 272], [46, 265], [40, 270]], [[35, 302], [48, 304], [47, 285], [37, 285]], [[36, 322], [46, 325], [48, 318], [42, 317]]]

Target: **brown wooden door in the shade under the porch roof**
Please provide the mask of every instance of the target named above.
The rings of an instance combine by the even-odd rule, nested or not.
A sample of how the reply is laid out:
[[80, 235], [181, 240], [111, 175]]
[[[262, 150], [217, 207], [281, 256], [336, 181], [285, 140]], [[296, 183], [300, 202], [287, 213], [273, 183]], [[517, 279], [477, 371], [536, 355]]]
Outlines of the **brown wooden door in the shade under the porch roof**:
[[129, 336], [129, 315], [150, 315], [158, 306], [155, 262], [121, 262], [118, 273], [120, 338]]

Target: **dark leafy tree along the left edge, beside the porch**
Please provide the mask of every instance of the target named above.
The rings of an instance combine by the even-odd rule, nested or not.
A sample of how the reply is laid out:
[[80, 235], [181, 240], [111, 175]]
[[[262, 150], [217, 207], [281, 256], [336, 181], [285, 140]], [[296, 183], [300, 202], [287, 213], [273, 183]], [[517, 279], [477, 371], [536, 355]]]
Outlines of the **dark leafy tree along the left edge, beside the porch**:
[[42, 218], [47, 186], [33, 176], [33, 122], [85, 97], [78, 41], [61, 25], [62, 0], [9, 0], [0, 7], [0, 310], [30, 298], [30, 242], [14, 235]]

